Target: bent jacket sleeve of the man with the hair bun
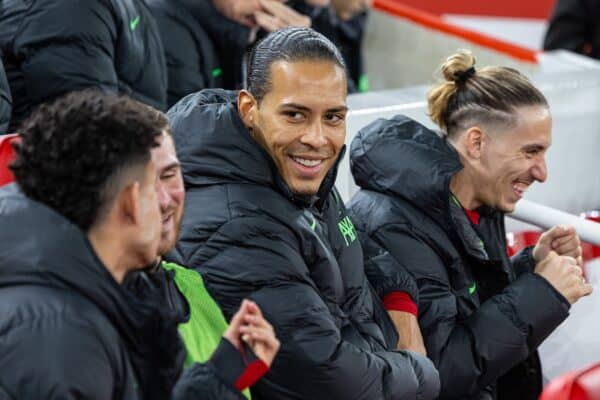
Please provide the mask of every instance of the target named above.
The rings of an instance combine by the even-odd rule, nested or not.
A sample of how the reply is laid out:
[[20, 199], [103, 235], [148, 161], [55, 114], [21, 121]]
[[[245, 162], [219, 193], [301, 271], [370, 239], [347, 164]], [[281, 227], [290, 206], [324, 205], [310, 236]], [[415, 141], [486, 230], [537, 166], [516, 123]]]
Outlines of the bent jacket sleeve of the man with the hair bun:
[[459, 320], [460, 289], [450, 287], [449, 266], [418, 236], [395, 235], [394, 245], [390, 251], [410, 268], [419, 286], [419, 324], [427, 355], [440, 373], [441, 399], [466, 398], [484, 389], [524, 360], [568, 315], [568, 303], [544, 278], [524, 273]]

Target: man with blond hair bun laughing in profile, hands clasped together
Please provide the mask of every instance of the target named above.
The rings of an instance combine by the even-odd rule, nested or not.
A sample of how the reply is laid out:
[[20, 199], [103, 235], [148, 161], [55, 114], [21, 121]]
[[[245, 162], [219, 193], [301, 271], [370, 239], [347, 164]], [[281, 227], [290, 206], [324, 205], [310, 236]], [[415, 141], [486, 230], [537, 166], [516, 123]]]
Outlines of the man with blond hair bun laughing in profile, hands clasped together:
[[[537, 399], [537, 347], [592, 290], [573, 228], [506, 254], [504, 214], [546, 180], [548, 103], [516, 70], [475, 69], [466, 51], [442, 72], [428, 96], [441, 135], [399, 115], [352, 142], [367, 273], [401, 337], [413, 334], [405, 347], [438, 368], [441, 399]], [[414, 292], [396, 283], [407, 272]]]

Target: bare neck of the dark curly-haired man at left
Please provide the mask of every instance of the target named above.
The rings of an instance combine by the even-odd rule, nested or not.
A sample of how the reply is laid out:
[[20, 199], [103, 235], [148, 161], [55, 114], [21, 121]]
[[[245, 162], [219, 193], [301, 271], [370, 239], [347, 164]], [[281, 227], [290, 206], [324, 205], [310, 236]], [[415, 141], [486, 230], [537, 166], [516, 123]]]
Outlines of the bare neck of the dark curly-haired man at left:
[[104, 227], [90, 229], [87, 235], [90, 243], [104, 267], [117, 283], [121, 284], [128, 269], [123, 265], [126, 254], [120, 246], [120, 238]]

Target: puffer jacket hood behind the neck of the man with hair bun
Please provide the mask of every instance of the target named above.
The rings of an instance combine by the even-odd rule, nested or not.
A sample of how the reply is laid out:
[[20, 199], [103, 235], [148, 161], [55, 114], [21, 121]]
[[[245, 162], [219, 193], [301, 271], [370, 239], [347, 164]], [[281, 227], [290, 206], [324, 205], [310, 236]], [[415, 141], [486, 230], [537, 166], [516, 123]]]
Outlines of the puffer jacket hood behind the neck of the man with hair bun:
[[397, 115], [357, 133], [350, 168], [361, 188], [399, 196], [433, 220], [449, 222], [450, 180], [463, 166], [456, 150], [437, 133]]

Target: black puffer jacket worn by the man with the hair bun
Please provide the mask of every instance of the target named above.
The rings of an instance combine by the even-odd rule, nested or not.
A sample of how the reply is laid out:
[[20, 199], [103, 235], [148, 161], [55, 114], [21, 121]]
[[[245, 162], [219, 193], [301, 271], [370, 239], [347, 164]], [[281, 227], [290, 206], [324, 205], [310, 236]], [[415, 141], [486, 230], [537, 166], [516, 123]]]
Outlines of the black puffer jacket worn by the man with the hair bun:
[[456, 151], [396, 116], [362, 129], [350, 160], [361, 190], [349, 212], [365, 256], [390, 254], [395, 261], [374, 262], [369, 278], [413, 275], [440, 398], [537, 399], [536, 348], [567, 317], [569, 304], [532, 273], [530, 249], [511, 263], [501, 213], [483, 207], [475, 226], [451, 199], [450, 180], [462, 169]]

